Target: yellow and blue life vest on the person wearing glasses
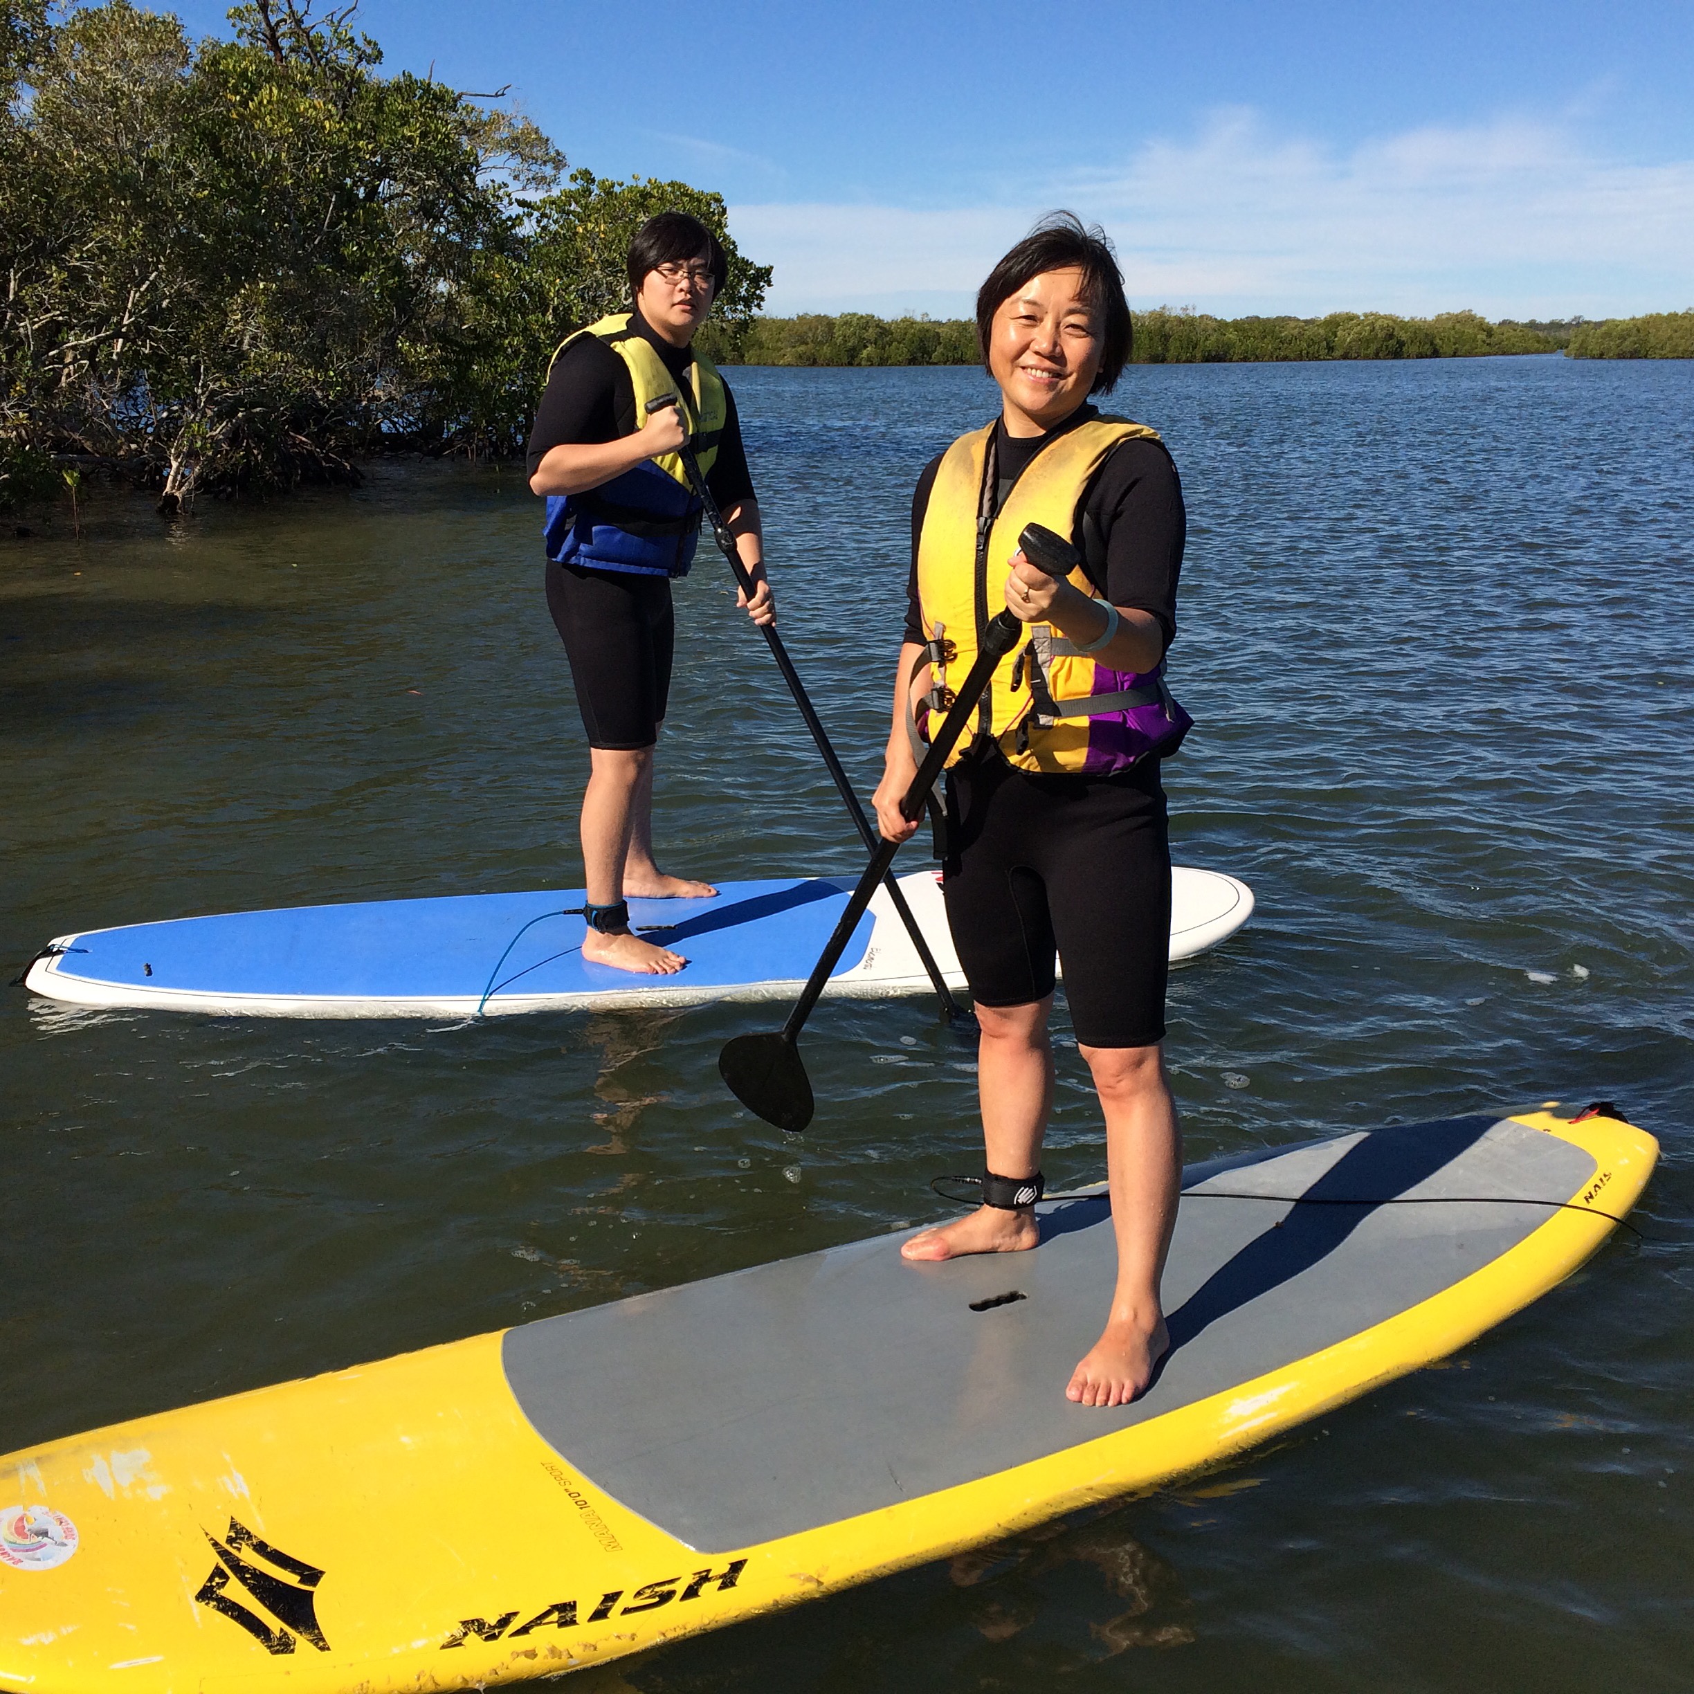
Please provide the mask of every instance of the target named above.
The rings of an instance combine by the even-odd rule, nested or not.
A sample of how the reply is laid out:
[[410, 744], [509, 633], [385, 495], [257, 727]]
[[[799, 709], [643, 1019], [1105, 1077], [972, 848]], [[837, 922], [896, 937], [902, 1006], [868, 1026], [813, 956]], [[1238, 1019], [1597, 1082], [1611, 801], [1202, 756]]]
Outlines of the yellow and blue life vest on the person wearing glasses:
[[[718, 457], [728, 420], [728, 396], [718, 368], [696, 352], [688, 383], [666, 369], [652, 342], [634, 327], [632, 312], [579, 329], [559, 342], [547, 369], [573, 340], [593, 335], [628, 366], [635, 388], [635, 427], [647, 424], [647, 401], [676, 395], [688, 425], [700, 474]], [[622, 476], [581, 495], [549, 495], [544, 535], [547, 557], [596, 571], [630, 571], [637, 576], [686, 576], [700, 540], [701, 505], [688, 483], [681, 454], [642, 459]]]

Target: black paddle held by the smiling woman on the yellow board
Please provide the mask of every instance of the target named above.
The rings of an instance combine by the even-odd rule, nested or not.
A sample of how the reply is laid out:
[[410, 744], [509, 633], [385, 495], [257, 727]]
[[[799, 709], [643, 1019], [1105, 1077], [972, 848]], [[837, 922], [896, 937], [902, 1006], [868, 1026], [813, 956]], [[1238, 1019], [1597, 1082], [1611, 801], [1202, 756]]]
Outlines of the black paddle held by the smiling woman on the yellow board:
[[[1018, 545], [1052, 576], [1066, 576], [1076, 567], [1076, 549], [1040, 523], [1027, 525]], [[964, 732], [966, 720], [976, 710], [983, 689], [988, 688], [994, 666], [1018, 645], [1021, 632], [1023, 625], [1010, 612], [1001, 612], [989, 622], [976, 664], [971, 666], [971, 674], [959, 688], [935, 740], [930, 742], [930, 750], [923, 756], [923, 764], [918, 766], [918, 774], [900, 801], [901, 817], [915, 820], [923, 813], [930, 788]], [[864, 916], [864, 908], [871, 905], [871, 893], [888, 876], [898, 852], [900, 842], [877, 842], [852, 900], [847, 901], [847, 910], [835, 925], [835, 933], [830, 935], [783, 1028], [767, 1035], [737, 1035], [732, 1042], [725, 1042], [718, 1054], [718, 1076], [728, 1084], [730, 1093], [779, 1130], [798, 1132], [811, 1121], [811, 1081], [800, 1057], [800, 1032], [811, 1016], [811, 1008], [818, 1003], [818, 994], [823, 993], [823, 984], [830, 979], [830, 971], [835, 969], [859, 918]]]

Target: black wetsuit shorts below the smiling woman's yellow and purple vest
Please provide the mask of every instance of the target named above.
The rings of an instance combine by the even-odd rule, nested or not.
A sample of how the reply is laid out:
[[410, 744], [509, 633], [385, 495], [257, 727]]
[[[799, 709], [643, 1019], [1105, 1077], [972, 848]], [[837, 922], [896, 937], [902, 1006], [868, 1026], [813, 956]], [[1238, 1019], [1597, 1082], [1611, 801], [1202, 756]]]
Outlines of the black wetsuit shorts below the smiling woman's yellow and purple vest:
[[981, 1006], [1025, 1006], [1064, 966], [1084, 1047], [1164, 1038], [1171, 839], [1157, 761], [1115, 778], [1016, 771], [998, 754], [952, 776], [947, 923]]

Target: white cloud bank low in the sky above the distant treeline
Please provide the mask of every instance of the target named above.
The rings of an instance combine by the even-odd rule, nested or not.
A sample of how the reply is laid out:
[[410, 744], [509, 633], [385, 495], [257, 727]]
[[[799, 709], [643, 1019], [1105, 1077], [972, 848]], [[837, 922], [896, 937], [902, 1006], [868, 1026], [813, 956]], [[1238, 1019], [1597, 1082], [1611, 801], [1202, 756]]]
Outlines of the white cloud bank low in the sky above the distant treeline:
[[772, 312], [964, 312], [1052, 205], [1106, 224], [1135, 305], [1492, 317], [1694, 305], [1694, 161], [1608, 159], [1569, 120], [1430, 125], [1338, 152], [1220, 112], [1191, 139], [1149, 141], [1016, 202], [740, 205], [732, 229], [776, 264]]

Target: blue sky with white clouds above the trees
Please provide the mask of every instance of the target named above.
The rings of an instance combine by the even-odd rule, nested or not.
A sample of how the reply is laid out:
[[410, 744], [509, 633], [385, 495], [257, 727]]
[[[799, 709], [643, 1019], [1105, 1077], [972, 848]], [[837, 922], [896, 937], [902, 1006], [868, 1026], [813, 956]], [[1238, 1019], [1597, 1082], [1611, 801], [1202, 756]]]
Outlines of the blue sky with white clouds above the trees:
[[[173, 10], [227, 32], [222, 3]], [[772, 312], [962, 313], [1055, 205], [1106, 225], [1137, 307], [1694, 305], [1694, 0], [364, 0], [357, 20], [390, 69], [512, 85], [573, 164], [718, 190], [776, 266]]]

